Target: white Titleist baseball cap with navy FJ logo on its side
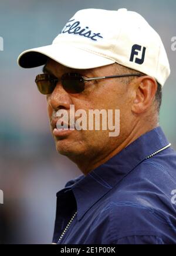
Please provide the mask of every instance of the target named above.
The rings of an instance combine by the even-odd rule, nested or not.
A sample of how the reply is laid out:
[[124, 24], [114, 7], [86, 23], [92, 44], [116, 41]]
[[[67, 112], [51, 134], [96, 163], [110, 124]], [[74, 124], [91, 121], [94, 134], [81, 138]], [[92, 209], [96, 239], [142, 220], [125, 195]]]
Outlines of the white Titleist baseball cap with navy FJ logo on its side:
[[158, 33], [137, 12], [83, 9], [71, 18], [52, 45], [22, 52], [18, 64], [33, 68], [51, 58], [66, 67], [90, 69], [115, 62], [154, 77], [164, 85], [170, 65]]

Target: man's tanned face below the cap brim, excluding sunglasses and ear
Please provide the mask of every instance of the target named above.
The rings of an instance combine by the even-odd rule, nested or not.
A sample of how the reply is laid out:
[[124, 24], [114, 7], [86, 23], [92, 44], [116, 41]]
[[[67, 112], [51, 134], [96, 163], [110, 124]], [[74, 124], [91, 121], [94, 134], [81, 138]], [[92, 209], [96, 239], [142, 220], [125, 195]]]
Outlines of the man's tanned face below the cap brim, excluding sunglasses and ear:
[[[77, 72], [86, 78], [123, 74], [120, 69], [118, 70], [117, 64], [101, 68], [76, 70], [60, 65], [51, 59], [49, 59], [46, 69], [57, 78], [68, 72]], [[60, 154], [67, 155], [75, 162], [80, 157], [98, 161], [100, 158], [106, 157], [109, 152], [116, 149], [127, 138], [133, 126], [133, 115], [131, 113], [130, 88], [123, 83], [122, 79], [110, 78], [86, 82], [84, 91], [79, 94], [69, 94], [63, 89], [61, 82], [58, 82], [52, 94], [47, 95], [52, 134], [56, 123], [54, 122], [54, 120], [56, 121], [55, 114], [59, 109], [66, 109], [69, 114], [70, 105], [75, 105], [75, 111], [84, 109], [87, 117], [89, 116], [89, 109], [106, 109], [106, 111], [113, 109], [113, 115], [115, 109], [120, 109], [120, 135], [118, 137], [110, 137], [108, 129], [106, 131], [101, 129], [100, 131], [89, 131], [89, 129], [77, 131], [75, 129], [60, 132], [60, 134], [54, 132], [56, 149]]]

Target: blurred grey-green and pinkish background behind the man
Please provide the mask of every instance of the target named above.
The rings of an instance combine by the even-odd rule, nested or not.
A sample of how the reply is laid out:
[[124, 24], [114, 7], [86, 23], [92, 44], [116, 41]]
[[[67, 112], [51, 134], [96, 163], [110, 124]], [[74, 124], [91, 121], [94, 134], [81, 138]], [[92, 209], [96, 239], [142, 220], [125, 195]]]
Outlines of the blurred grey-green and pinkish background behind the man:
[[56, 192], [80, 171], [58, 155], [49, 132], [45, 97], [34, 82], [41, 68], [22, 69], [16, 64], [25, 49], [51, 44], [79, 9], [127, 8], [144, 16], [160, 34], [171, 66], [163, 89], [160, 125], [176, 149], [176, 36], [174, 0], [1, 0], [0, 36], [0, 205], [1, 243], [50, 243], [55, 221]]

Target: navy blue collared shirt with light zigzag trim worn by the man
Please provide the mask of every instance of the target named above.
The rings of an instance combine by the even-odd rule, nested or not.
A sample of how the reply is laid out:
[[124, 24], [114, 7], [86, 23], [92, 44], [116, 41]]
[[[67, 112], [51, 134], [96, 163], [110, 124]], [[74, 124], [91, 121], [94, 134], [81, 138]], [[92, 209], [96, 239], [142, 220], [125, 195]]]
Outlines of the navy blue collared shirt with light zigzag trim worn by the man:
[[176, 154], [157, 127], [57, 192], [53, 242], [176, 244], [175, 189]]

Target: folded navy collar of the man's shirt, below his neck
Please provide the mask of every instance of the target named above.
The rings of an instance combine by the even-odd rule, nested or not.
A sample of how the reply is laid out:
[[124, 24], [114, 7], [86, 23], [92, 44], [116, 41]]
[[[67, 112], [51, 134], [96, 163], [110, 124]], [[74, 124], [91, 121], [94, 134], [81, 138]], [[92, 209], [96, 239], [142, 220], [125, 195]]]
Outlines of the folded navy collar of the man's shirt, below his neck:
[[118, 184], [132, 169], [149, 155], [168, 145], [161, 127], [142, 135], [109, 161], [93, 169], [86, 176], [67, 182], [72, 188], [77, 204], [77, 220], [114, 185]]

